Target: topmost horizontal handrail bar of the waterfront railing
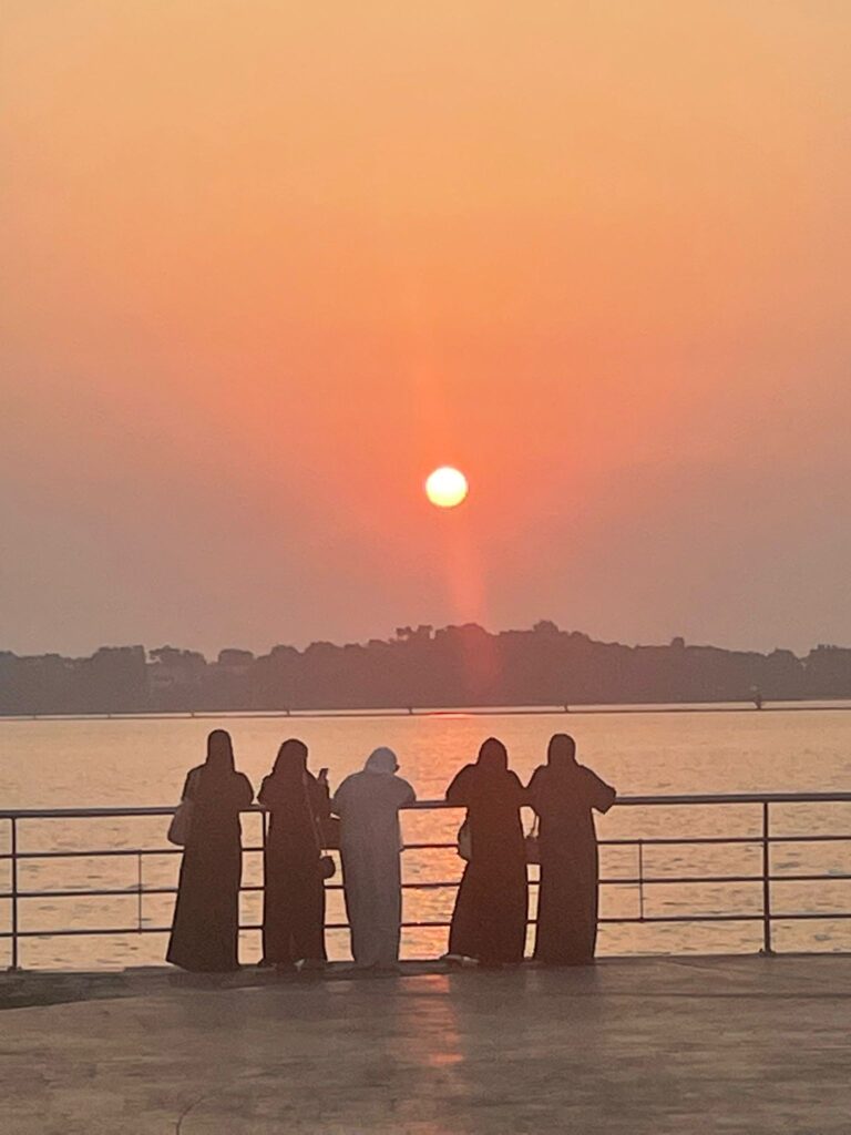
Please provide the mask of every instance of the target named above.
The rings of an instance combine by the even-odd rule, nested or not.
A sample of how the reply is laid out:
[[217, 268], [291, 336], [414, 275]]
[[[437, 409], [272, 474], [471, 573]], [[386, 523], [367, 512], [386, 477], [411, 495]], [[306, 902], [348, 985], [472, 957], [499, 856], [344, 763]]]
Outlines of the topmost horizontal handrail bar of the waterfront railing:
[[[620, 796], [615, 800], [621, 807], [667, 805], [718, 805], [718, 804], [851, 804], [851, 792], [726, 792], [688, 796]], [[135, 808], [3, 808], [0, 819], [96, 819], [118, 816], [170, 816], [177, 805]], [[458, 809], [446, 800], [418, 800], [405, 806], [405, 810]], [[252, 804], [245, 814], [261, 815], [263, 808]]]

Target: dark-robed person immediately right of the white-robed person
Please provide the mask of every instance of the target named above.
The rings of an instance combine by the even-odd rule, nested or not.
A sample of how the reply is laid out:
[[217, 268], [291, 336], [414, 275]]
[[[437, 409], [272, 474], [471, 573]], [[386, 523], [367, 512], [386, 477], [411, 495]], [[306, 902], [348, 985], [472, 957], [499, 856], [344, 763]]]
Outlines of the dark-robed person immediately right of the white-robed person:
[[523, 960], [526, 940], [526, 858], [520, 808], [523, 787], [508, 770], [502, 741], [488, 738], [474, 765], [446, 790], [449, 804], [467, 809], [470, 863], [464, 868], [449, 931], [449, 958], [480, 965]]

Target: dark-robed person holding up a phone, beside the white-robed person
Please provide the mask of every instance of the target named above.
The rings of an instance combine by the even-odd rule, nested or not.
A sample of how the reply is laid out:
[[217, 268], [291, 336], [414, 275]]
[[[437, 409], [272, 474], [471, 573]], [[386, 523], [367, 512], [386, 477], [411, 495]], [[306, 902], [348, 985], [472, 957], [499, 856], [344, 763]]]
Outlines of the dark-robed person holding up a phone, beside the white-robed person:
[[303, 741], [290, 738], [281, 745], [258, 800], [270, 813], [263, 857], [263, 961], [319, 967], [327, 959], [319, 833], [330, 808], [325, 777], [307, 772]]

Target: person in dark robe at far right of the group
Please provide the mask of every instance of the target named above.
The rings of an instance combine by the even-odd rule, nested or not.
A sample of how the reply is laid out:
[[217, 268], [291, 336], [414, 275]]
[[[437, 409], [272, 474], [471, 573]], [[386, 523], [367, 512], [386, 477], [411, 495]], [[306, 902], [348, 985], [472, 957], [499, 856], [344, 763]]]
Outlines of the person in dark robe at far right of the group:
[[593, 812], [608, 812], [615, 790], [576, 763], [576, 743], [556, 733], [536, 768], [529, 800], [540, 817], [540, 890], [534, 957], [550, 966], [593, 960], [599, 855]]

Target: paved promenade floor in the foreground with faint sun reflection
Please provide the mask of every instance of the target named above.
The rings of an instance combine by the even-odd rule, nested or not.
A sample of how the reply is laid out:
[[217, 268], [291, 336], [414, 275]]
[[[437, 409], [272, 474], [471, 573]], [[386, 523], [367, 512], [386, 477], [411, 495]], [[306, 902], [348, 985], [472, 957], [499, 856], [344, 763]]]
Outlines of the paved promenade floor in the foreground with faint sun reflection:
[[2, 1135], [851, 1133], [846, 956], [0, 978], [26, 1002]]

